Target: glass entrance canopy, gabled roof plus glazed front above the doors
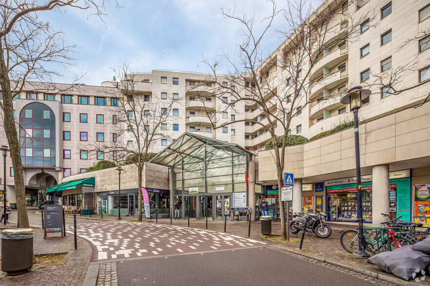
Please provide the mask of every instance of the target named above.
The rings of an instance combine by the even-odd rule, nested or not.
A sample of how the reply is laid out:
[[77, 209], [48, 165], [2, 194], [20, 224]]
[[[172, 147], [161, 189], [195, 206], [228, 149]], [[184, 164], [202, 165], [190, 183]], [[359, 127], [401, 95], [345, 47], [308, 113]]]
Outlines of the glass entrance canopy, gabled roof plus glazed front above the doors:
[[151, 162], [172, 167], [174, 196], [232, 193], [247, 191], [252, 155], [237, 144], [185, 132]]

